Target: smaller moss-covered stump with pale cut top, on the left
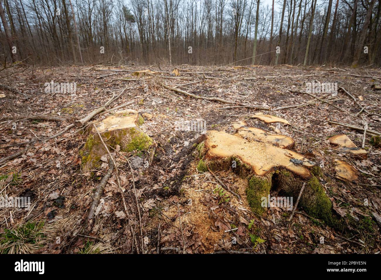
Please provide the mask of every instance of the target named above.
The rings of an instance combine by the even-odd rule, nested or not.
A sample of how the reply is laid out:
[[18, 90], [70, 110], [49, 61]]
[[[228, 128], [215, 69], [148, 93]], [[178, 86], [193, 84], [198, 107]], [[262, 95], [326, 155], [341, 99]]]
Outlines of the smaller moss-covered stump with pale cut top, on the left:
[[[147, 150], [152, 145], [152, 139], [139, 129], [139, 125], [143, 122], [144, 119], [138, 114], [119, 114], [95, 123], [95, 126], [106, 145], [114, 149], [119, 145], [122, 152], [132, 152]], [[113, 152], [110, 147], [110, 152]], [[85, 146], [81, 150], [83, 170], [88, 171], [97, 167], [102, 155], [106, 154], [107, 150], [95, 128], [92, 127]]]

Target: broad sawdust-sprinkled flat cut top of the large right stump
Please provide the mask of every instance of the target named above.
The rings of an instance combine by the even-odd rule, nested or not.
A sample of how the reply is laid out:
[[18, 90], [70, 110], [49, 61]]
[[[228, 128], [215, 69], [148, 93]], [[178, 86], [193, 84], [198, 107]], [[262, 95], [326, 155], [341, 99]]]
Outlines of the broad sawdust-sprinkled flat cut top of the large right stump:
[[306, 166], [315, 165], [301, 154], [261, 142], [260, 139], [250, 141], [237, 135], [213, 130], [207, 131], [205, 137], [205, 157], [208, 160], [238, 157], [259, 176], [276, 167], [282, 167], [303, 178], [310, 178], [311, 173]]

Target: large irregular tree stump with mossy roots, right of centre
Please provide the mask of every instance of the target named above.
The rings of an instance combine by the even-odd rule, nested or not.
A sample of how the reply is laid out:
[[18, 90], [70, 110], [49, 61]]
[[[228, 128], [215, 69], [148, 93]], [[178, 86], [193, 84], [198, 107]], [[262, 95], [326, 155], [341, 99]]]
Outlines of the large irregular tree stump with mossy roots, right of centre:
[[[224, 131], [207, 131], [204, 141], [197, 146], [199, 171], [232, 170], [248, 179], [246, 199], [258, 214], [267, 211], [263, 201], [273, 190], [293, 197], [296, 202], [303, 183], [304, 194], [299, 205], [315, 218], [333, 225], [332, 203], [320, 185], [320, 168], [303, 155], [292, 150], [293, 139], [284, 135], [272, 135], [240, 122], [233, 125], [235, 135]], [[244, 139], [245, 138], [245, 139]]]

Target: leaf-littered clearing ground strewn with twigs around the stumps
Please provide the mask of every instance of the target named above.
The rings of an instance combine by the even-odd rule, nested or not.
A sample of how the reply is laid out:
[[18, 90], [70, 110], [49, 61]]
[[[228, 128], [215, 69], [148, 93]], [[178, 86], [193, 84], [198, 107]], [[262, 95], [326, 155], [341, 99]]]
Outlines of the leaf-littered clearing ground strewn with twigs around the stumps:
[[[377, 90], [381, 70], [181, 65], [177, 66], [179, 76], [176, 76], [171, 74], [173, 68], [108, 64], [47, 68], [19, 64], [0, 72], [3, 85], [0, 196], [31, 198], [30, 209], [0, 207], [0, 250], [380, 253], [379, 138], [372, 138], [374, 134], [366, 136], [366, 159], [348, 157], [335, 150], [327, 139], [346, 134], [358, 147], [363, 142], [363, 131], [330, 121], [359, 128], [367, 122], [368, 130], [381, 132], [381, 90]], [[156, 73], [134, 73], [146, 69]], [[45, 83], [52, 80], [76, 82], [76, 93], [46, 93]], [[337, 83], [339, 88], [336, 93], [315, 92], [311, 96], [305, 93], [306, 83], [313, 81]], [[218, 97], [232, 104], [196, 99], [163, 85], [176, 86], [197, 96]], [[63, 130], [103, 106], [112, 96], [118, 98], [91, 121], [109, 117], [115, 112], [109, 109], [127, 103], [118, 109], [138, 111], [144, 117], [141, 129], [154, 139], [155, 146], [139, 153], [114, 154], [123, 196], [114, 172], [104, 188], [94, 224], [84, 233], [94, 189], [109, 165], [106, 159], [96, 170], [82, 170], [80, 150], [91, 122]], [[312, 101], [315, 103], [311, 104]], [[287, 106], [294, 107], [280, 108]], [[250, 118], [258, 112], [277, 115], [290, 124], [271, 125]], [[329, 227], [307, 215], [303, 208], [298, 208], [291, 222], [288, 222], [291, 211], [281, 207], [269, 208], [263, 215], [255, 214], [246, 200], [247, 182], [231, 170], [216, 176], [242, 200], [234, 195], [221, 199], [223, 196], [216, 192], [219, 186], [216, 178], [197, 170], [195, 144], [200, 132], [174, 129], [178, 120], [196, 119], [205, 120], [207, 130], [221, 131], [233, 131], [232, 124], [245, 120], [270, 133], [290, 136], [295, 140], [293, 149], [297, 152], [311, 150], [309, 153], [322, 168], [320, 183], [333, 203], [335, 214], [345, 219], [346, 227], [343, 230]], [[56, 134], [61, 135], [51, 138]], [[132, 173], [126, 158], [137, 157], [149, 165], [133, 165]], [[335, 158], [354, 166], [359, 176], [357, 182], [336, 178]], [[28, 230], [33, 227], [30, 231], [38, 236], [37, 246], [25, 239], [21, 242], [25, 246], [8, 246], [22, 225]]]

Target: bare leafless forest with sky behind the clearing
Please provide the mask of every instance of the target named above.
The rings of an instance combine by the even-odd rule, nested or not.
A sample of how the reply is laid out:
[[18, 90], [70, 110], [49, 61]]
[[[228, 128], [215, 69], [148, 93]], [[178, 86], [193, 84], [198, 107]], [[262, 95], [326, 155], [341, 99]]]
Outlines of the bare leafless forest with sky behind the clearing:
[[0, 0], [1, 62], [378, 67], [381, 0]]

